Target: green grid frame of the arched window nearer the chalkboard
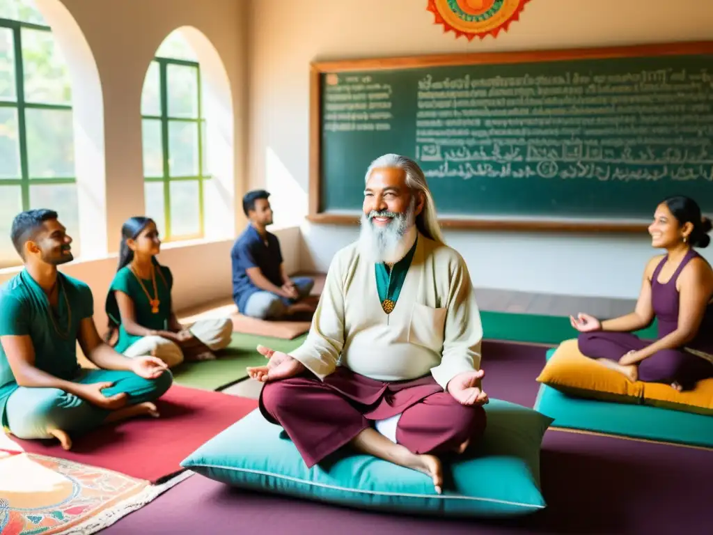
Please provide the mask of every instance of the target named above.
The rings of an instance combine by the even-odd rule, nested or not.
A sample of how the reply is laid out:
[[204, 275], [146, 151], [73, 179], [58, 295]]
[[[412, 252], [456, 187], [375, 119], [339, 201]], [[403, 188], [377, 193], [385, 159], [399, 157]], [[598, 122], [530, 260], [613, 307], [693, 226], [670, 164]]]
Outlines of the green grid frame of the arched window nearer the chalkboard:
[[[205, 173], [205, 157], [204, 157], [204, 128], [205, 117], [202, 113], [202, 87], [200, 78], [200, 63], [198, 61], [190, 61], [178, 58], [167, 58], [163, 56], [155, 56], [152, 61], [158, 63], [158, 78], [159, 78], [159, 103], [160, 115], [145, 115], [142, 111], [141, 121], [160, 121], [161, 125], [161, 153], [163, 157], [163, 174], [161, 176], [147, 176], [144, 172], [144, 185], [148, 183], [163, 183], [163, 221], [156, 222], [162, 230], [163, 240], [165, 242], [178, 242], [182, 240], [197, 240], [205, 238], [205, 180], [210, 180], [211, 176]], [[175, 117], [168, 114], [168, 67], [169, 66], [188, 66], [195, 68], [196, 73], [196, 96], [198, 103], [196, 107], [196, 117]], [[148, 72], [148, 71], [147, 71]], [[144, 82], [145, 83], [145, 82]], [[170, 140], [169, 140], [169, 124], [176, 123], [194, 123], [198, 128], [198, 175], [171, 176], [170, 175]], [[142, 153], [144, 150], [142, 141]], [[198, 183], [198, 233], [186, 235], [173, 235], [171, 231], [171, 206], [170, 206], [170, 186], [175, 182], [197, 182]]]

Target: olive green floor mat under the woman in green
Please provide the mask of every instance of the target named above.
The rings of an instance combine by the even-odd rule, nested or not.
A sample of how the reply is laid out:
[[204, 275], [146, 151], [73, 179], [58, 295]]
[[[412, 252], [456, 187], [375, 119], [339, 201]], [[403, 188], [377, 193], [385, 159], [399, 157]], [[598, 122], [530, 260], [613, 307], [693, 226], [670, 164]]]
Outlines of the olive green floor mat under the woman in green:
[[245, 368], [267, 362], [267, 359], [255, 350], [257, 345], [262, 344], [277, 351], [292, 351], [299, 347], [306, 337], [305, 334], [293, 340], [284, 340], [234, 332], [230, 345], [217, 353], [217, 360], [184, 362], [173, 370], [173, 379], [185, 387], [222, 389], [245, 379]]

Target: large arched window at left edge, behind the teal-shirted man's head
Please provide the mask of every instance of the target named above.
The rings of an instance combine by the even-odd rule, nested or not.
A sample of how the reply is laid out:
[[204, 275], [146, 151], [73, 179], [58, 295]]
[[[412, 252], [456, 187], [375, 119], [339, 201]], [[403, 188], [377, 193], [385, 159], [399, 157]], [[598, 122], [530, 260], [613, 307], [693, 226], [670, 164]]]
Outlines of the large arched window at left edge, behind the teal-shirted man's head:
[[12, 219], [60, 213], [75, 238], [78, 206], [72, 93], [66, 62], [32, 0], [0, 0], [0, 267], [19, 264]]

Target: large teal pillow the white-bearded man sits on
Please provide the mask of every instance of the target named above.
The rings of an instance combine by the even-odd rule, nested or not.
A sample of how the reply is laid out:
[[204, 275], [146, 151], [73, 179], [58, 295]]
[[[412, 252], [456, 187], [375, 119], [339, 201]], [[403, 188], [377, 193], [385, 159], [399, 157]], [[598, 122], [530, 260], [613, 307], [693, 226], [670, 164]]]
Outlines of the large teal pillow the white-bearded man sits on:
[[552, 419], [491, 399], [488, 426], [473, 451], [443, 463], [443, 494], [431, 478], [342, 449], [307, 469], [282, 427], [255, 410], [203, 444], [181, 465], [243, 489], [362, 509], [434, 516], [515, 516], [545, 507], [540, 445]]

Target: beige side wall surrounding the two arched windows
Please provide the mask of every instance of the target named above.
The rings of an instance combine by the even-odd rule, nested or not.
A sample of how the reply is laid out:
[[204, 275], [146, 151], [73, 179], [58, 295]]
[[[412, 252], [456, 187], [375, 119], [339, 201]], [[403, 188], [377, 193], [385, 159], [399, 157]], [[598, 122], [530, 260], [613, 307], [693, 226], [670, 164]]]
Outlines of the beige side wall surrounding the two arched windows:
[[[235, 132], [232, 147], [235, 168], [234, 176], [230, 178], [230, 189], [238, 201], [237, 210], [222, 238], [165, 245], [160, 261], [173, 270], [176, 284], [174, 299], [179, 310], [230, 297], [230, 248], [235, 234], [242, 231], [245, 225], [240, 207], [246, 182], [245, 3], [241, 0], [63, 0], [62, 3], [66, 10], [56, 0], [40, 0], [38, 5], [42, 8], [43, 4], [47, 4], [50, 11], [57, 12], [57, 16], [46, 14], [50, 24], [61, 20], [61, 12], [71, 16], [96, 62], [93, 70], [95, 73], [98, 71], [101, 79], [101, 93], [95, 113], [101, 113], [103, 99], [103, 130], [93, 133], [92, 140], [96, 142], [93, 145], [101, 158], [86, 173], [95, 171], [95, 180], [104, 180], [106, 174], [106, 188], [98, 188], [101, 198], [97, 199], [98, 205], [106, 204], [106, 208], [96, 210], [93, 220], [88, 218], [87, 225], [83, 220], [81, 232], [81, 238], [84, 238], [85, 233], [96, 226], [105, 235], [103, 238], [96, 237], [93, 245], [103, 245], [61, 269], [90, 285], [95, 300], [96, 322], [99, 327], [106, 325], [104, 299], [116, 272], [116, 255], [113, 252], [118, 248], [121, 224], [130, 216], [144, 212], [140, 96], [146, 69], [156, 49], [171, 31], [181, 26], [193, 26], [215, 47], [230, 81]], [[75, 98], [83, 95], [81, 88], [73, 92]], [[78, 105], [81, 107], [82, 103], [75, 103], [75, 108]], [[82, 134], [86, 135], [86, 132]], [[230, 202], [235, 202], [235, 199], [231, 198]], [[61, 207], [49, 208], [61, 211]], [[281, 239], [288, 271], [297, 270], [299, 230], [288, 228], [276, 232]], [[19, 269], [0, 270], [0, 284], [17, 272]]]

